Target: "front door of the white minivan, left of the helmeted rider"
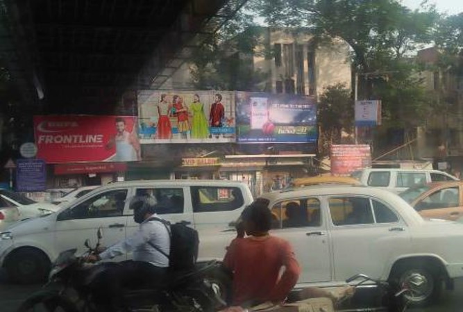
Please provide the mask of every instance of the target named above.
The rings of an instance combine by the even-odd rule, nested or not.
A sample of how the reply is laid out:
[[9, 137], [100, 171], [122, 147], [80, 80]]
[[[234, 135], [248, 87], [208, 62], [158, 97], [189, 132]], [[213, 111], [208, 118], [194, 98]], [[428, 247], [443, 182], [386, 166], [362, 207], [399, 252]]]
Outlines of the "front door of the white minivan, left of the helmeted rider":
[[[56, 220], [55, 244], [58, 252], [77, 248], [86, 251], [84, 241], [96, 244], [96, 231], [103, 230], [101, 245], [110, 246], [126, 237], [127, 215], [124, 208], [131, 197], [130, 188], [104, 190], [61, 211]], [[124, 260], [117, 256], [114, 261]]]

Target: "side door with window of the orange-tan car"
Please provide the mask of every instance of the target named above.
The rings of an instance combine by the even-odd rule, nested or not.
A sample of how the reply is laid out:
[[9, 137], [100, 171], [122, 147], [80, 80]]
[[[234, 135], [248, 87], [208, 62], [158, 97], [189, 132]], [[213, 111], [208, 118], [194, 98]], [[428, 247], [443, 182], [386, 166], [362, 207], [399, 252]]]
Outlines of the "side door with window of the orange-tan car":
[[463, 215], [459, 186], [439, 188], [424, 193], [412, 203], [422, 217], [457, 220]]

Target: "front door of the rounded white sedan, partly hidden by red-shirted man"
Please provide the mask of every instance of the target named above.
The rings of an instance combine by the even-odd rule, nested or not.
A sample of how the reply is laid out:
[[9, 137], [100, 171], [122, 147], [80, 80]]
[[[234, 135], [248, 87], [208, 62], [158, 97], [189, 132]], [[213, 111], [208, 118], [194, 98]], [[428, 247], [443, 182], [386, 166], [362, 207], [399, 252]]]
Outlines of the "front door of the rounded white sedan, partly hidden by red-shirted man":
[[298, 283], [330, 281], [330, 235], [326, 230], [325, 213], [317, 197], [285, 199], [271, 207], [271, 233], [288, 240], [301, 265]]

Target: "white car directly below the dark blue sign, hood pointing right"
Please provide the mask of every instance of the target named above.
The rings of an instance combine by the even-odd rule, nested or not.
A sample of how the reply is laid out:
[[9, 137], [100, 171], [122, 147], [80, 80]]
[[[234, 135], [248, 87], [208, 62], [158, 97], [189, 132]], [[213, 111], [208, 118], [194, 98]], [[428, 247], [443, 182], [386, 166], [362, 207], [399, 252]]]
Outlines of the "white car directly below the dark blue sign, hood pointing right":
[[13, 192], [11, 190], [0, 189], [0, 197], [8, 204], [15, 206], [19, 211], [19, 220], [40, 217], [58, 211], [59, 206], [49, 203], [37, 203], [32, 199]]

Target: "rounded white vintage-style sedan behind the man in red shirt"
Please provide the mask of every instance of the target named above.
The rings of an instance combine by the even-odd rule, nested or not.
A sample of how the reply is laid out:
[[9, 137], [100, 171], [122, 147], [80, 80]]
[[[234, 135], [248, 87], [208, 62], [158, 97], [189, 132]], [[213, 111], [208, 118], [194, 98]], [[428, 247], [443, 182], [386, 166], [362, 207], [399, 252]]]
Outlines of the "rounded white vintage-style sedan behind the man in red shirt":
[[[303, 268], [298, 286], [337, 286], [361, 272], [407, 283], [412, 302], [426, 304], [438, 297], [442, 281], [463, 277], [462, 224], [423, 220], [387, 190], [311, 186], [256, 201], [278, 216], [273, 235], [294, 247]], [[233, 235], [202, 236], [200, 257], [220, 258]]]

